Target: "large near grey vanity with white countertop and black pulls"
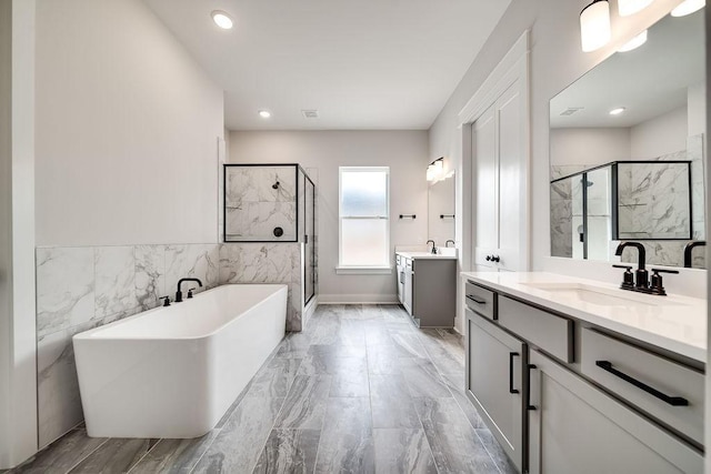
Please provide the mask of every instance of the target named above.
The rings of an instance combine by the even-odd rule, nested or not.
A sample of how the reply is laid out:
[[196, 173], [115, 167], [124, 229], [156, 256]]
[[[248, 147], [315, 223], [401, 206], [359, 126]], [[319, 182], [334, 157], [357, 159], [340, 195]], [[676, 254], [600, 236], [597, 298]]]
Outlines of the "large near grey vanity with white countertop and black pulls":
[[701, 300], [624, 307], [550, 274], [463, 275], [465, 392], [519, 472], [703, 472]]

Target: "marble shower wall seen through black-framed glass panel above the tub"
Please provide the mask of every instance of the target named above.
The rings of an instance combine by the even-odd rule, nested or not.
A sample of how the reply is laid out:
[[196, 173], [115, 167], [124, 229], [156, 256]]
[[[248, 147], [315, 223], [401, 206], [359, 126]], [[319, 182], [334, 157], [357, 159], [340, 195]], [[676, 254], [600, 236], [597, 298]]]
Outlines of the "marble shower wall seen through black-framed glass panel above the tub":
[[[277, 189], [273, 188], [279, 183]], [[302, 188], [302, 186], [301, 186]], [[229, 241], [289, 241], [297, 235], [294, 167], [227, 168]], [[283, 235], [276, 236], [274, 228]]]

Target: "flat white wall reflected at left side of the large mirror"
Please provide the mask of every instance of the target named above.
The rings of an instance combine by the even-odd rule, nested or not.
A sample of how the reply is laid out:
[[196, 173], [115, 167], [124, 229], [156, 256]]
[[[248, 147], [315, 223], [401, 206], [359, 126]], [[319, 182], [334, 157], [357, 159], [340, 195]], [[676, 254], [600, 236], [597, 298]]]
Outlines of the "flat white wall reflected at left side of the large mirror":
[[630, 159], [630, 129], [552, 129], [551, 164], [604, 164]]

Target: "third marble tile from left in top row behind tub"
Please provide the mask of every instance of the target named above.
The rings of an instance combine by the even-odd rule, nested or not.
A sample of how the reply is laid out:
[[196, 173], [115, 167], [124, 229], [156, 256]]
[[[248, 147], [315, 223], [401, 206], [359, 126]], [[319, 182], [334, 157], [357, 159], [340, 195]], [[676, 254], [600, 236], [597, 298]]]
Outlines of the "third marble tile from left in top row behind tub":
[[158, 306], [167, 295], [166, 245], [136, 245], [136, 297], [141, 310]]

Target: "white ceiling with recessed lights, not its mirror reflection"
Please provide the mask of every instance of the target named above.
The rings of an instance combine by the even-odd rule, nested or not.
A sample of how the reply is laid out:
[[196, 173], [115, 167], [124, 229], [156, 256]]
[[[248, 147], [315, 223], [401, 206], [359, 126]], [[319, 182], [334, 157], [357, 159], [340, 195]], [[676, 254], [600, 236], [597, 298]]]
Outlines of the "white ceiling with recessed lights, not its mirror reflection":
[[510, 3], [144, 1], [224, 89], [230, 130], [429, 129]]

